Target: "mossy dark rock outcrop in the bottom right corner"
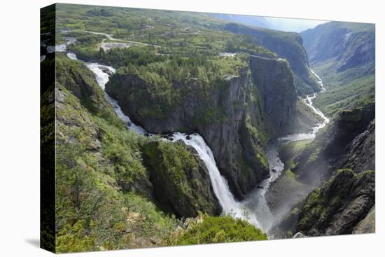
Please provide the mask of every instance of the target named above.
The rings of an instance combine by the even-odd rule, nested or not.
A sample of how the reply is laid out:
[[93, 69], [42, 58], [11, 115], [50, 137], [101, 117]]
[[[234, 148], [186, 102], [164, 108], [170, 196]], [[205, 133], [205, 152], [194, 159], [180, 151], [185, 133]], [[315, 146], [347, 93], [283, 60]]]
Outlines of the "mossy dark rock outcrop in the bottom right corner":
[[351, 234], [374, 206], [374, 171], [360, 174], [340, 169], [309, 194], [298, 216], [297, 231], [305, 235]]

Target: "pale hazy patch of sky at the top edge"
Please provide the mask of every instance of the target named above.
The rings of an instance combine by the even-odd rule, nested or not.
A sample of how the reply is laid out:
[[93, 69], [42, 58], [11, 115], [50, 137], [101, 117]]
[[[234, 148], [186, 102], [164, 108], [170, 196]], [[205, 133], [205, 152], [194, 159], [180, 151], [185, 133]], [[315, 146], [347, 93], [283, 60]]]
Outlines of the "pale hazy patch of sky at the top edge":
[[317, 25], [328, 22], [325, 20], [303, 20], [288, 18], [271, 18], [264, 17], [274, 29], [283, 30], [285, 32], [302, 32], [306, 29], [312, 29]]

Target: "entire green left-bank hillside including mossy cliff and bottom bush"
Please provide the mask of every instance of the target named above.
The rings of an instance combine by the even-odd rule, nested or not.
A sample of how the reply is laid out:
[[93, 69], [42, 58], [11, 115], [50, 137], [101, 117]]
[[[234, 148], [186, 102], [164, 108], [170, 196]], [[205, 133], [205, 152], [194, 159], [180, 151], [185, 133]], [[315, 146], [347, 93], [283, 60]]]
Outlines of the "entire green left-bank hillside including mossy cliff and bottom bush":
[[[182, 244], [176, 216], [219, 214], [207, 170], [184, 144], [127, 130], [84, 64], [58, 54], [56, 76], [58, 253]], [[246, 221], [225, 221], [229, 234], [205, 242], [262, 238]]]

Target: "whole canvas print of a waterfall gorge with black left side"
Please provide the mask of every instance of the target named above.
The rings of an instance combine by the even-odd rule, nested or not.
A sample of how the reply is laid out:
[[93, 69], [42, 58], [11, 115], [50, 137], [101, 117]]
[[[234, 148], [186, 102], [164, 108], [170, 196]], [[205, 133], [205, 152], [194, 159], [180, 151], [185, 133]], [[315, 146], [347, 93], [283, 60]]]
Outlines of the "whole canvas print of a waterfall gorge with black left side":
[[374, 24], [41, 9], [41, 246], [373, 233]]

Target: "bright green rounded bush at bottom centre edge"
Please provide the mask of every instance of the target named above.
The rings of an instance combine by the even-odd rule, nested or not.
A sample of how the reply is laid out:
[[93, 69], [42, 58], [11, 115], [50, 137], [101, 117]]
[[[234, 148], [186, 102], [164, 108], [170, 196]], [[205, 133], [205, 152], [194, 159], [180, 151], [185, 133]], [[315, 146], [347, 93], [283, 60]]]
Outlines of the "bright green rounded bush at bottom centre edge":
[[209, 244], [267, 240], [264, 232], [247, 221], [231, 216], [204, 216], [186, 231], [170, 239], [172, 245]]

